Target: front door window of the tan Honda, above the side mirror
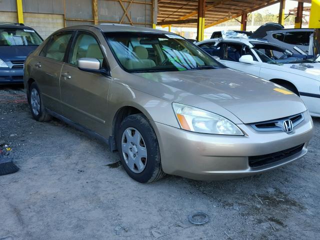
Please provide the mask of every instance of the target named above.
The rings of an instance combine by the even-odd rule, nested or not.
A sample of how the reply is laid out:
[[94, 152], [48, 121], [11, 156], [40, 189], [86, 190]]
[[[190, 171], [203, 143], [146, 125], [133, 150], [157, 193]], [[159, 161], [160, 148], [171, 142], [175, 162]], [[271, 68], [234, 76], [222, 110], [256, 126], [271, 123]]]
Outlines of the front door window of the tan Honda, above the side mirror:
[[77, 35], [70, 53], [69, 62], [76, 65], [77, 60], [81, 57], [97, 58], [101, 64], [103, 62], [103, 54], [98, 42], [88, 33], [80, 33]]

